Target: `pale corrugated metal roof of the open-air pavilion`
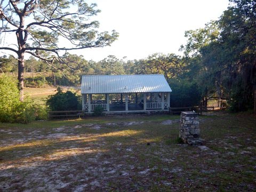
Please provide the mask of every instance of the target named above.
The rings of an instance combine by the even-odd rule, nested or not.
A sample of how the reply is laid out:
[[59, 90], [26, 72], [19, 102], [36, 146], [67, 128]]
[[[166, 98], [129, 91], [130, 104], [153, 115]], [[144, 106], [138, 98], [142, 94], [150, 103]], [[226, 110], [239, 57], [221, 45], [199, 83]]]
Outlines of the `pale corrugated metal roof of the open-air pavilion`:
[[82, 94], [171, 92], [163, 75], [84, 75]]

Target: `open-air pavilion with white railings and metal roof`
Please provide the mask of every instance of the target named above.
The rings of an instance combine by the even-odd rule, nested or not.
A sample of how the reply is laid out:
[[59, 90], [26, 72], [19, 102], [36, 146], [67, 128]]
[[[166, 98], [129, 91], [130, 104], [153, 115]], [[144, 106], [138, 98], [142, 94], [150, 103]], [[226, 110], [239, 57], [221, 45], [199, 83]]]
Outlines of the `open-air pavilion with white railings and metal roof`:
[[171, 88], [163, 75], [84, 75], [82, 109], [92, 113], [168, 111]]

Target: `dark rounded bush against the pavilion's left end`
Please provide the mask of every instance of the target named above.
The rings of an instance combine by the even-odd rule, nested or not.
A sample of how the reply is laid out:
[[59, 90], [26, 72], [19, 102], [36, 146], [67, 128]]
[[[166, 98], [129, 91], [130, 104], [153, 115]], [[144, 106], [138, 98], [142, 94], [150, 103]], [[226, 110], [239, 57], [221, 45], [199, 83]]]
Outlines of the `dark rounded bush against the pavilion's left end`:
[[76, 93], [71, 91], [64, 93], [60, 87], [56, 94], [48, 97], [46, 105], [51, 111], [82, 110], [81, 100]]

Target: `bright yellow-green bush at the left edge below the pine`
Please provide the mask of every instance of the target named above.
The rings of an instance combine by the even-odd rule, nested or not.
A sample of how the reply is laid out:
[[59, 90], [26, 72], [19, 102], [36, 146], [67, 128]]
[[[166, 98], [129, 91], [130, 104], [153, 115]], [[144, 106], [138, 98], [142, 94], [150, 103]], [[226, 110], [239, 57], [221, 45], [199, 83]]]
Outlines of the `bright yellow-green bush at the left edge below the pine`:
[[0, 122], [29, 123], [35, 119], [34, 103], [26, 98], [19, 100], [17, 80], [12, 76], [0, 76]]

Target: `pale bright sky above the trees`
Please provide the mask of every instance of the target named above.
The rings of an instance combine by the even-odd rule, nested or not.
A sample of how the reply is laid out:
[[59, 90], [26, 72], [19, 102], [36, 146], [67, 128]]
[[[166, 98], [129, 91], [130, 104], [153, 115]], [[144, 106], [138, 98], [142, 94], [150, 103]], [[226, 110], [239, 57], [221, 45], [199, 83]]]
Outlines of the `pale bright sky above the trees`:
[[[217, 20], [228, 0], [89, 0], [101, 10], [92, 20], [100, 22], [100, 32], [116, 30], [111, 46], [76, 50], [86, 60], [100, 61], [108, 55], [125, 60], [145, 59], [154, 53], [175, 53], [186, 44], [186, 30], [203, 28]], [[7, 37], [8, 38], [8, 37]], [[14, 41], [15, 38], [13, 38]], [[11, 38], [6, 39], [8, 43]], [[1, 51], [1, 55], [4, 52]], [[28, 58], [30, 55], [27, 54]]]

